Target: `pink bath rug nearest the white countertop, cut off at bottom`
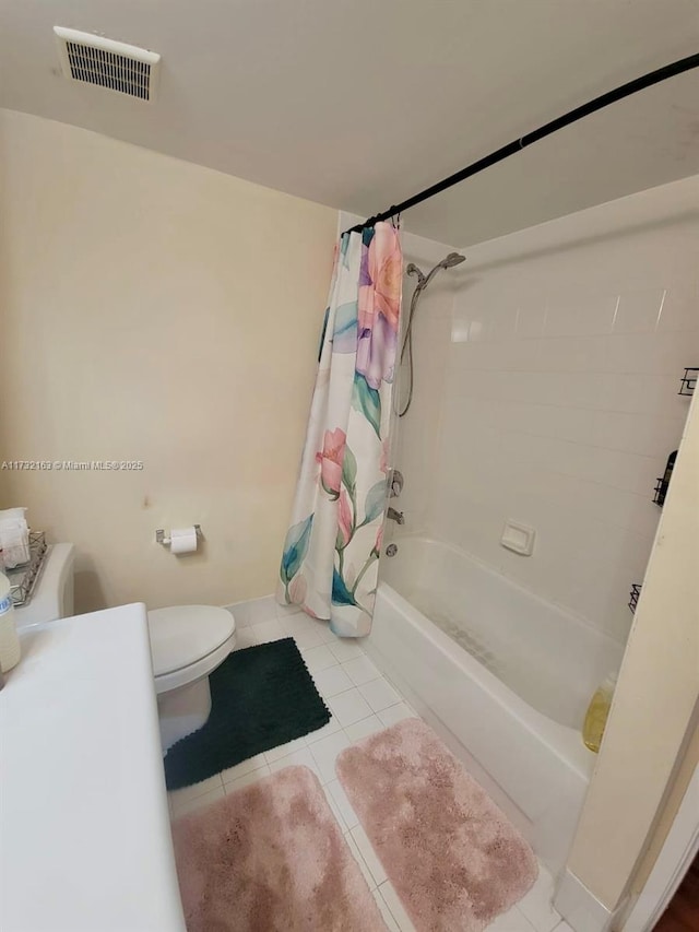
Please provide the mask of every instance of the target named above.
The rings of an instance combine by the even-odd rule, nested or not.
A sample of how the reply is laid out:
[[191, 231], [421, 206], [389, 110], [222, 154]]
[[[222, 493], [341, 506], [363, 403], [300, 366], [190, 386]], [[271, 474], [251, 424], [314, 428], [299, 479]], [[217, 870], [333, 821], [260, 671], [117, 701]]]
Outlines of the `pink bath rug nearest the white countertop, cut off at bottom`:
[[307, 767], [177, 819], [173, 841], [188, 932], [386, 932]]

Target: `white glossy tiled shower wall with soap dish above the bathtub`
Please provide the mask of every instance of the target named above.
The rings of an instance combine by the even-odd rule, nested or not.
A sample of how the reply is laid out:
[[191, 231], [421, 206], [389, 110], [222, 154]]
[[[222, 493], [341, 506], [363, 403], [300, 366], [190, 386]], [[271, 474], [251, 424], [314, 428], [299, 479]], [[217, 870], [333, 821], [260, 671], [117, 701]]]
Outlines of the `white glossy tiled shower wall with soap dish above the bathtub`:
[[[405, 531], [620, 640], [699, 366], [697, 203], [687, 179], [471, 247], [415, 326]], [[536, 530], [531, 557], [500, 545], [508, 518]]]

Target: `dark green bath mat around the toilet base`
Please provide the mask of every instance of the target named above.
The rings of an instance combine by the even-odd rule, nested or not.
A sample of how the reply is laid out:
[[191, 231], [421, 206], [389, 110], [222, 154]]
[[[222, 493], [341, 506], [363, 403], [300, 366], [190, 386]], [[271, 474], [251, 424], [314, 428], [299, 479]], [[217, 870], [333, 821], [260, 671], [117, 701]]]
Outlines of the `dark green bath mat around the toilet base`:
[[168, 790], [199, 783], [330, 721], [291, 637], [235, 651], [209, 682], [209, 721], [165, 756]]

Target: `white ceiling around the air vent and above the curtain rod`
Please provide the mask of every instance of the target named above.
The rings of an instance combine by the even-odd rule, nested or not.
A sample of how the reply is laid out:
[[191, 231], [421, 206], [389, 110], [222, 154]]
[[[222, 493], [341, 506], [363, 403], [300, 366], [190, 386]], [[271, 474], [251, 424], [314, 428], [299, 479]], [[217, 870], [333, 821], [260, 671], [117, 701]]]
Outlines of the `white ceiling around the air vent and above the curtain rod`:
[[[699, 51], [699, 0], [0, 0], [0, 106], [368, 215]], [[59, 72], [52, 26], [163, 56], [145, 105]], [[466, 246], [699, 173], [699, 71], [405, 215]]]

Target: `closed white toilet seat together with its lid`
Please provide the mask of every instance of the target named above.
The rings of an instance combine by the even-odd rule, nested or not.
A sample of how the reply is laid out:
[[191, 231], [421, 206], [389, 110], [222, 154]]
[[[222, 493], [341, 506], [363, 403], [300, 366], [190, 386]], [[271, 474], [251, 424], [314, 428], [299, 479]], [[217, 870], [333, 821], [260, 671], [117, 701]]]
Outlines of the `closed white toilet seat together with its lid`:
[[208, 676], [233, 649], [236, 623], [226, 609], [171, 605], [147, 616], [158, 695]]

